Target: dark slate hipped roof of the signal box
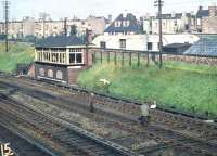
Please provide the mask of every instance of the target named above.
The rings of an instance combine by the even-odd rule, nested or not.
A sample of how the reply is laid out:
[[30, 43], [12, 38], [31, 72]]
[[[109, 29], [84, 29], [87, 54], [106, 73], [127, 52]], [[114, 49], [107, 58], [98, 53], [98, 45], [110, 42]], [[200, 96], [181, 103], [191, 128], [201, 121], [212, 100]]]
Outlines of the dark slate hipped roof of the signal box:
[[73, 36], [55, 36], [39, 40], [36, 48], [62, 48], [67, 46], [85, 46], [86, 39]]

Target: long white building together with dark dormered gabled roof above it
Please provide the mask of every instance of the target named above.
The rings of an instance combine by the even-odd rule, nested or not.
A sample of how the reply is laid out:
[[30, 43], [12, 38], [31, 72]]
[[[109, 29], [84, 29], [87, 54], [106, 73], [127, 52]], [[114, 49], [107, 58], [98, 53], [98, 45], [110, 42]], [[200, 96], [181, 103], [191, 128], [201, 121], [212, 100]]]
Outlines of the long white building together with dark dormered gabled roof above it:
[[[150, 29], [146, 29], [150, 31]], [[163, 44], [194, 43], [199, 37], [189, 34], [163, 35]], [[158, 51], [159, 37], [157, 34], [143, 34], [137, 18], [128, 13], [120, 14], [111, 26], [105, 29], [104, 35], [98, 36], [92, 41], [98, 48]]]

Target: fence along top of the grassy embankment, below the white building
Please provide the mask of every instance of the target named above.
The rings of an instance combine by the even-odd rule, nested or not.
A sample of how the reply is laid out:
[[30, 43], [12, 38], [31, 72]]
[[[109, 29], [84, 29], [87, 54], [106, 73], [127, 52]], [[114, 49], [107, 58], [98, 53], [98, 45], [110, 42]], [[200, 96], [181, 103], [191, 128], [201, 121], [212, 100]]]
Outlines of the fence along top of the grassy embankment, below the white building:
[[167, 53], [167, 52], [151, 52], [151, 51], [135, 51], [135, 50], [122, 50], [122, 49], [91, 49], [93, 63], [113, 63], [115, 65], [137, 65], [149, 66], [151, 64], [158, 65], [159, 54], [163, 55], [163, 62], [176, 61], [193, 64], [205, 64], [215, 66], [217, 65], [217, 56], [210, 55], [184, 55], [180, 53]]

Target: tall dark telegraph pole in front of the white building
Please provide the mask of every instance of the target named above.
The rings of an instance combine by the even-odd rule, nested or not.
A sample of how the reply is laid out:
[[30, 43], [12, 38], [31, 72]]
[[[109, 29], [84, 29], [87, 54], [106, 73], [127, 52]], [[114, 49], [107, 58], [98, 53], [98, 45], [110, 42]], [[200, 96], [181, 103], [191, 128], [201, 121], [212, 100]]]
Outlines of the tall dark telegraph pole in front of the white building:
[[154, 6], [158, 6], [158, 23], [159, 23], [159, 26], [158, 26], [158, 35], [159, 35], [159, 68], [162, 68], [163, 66], [163, 60], [162, 60], [162, 53], [163, 53], [163, 38], [162, 38], [162, 6], [164, 4], [164, 1], [162, 0], [156, 0], [154, 2]]

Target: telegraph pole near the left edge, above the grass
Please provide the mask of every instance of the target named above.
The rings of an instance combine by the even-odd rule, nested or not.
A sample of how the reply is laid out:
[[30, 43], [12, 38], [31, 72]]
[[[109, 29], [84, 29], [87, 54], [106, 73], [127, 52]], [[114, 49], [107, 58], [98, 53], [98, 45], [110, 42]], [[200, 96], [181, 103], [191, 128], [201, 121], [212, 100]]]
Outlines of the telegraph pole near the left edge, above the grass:
[[9, 0], [3, 1], [4, 30], [5, 30], [5, 52], [9, 52]]

